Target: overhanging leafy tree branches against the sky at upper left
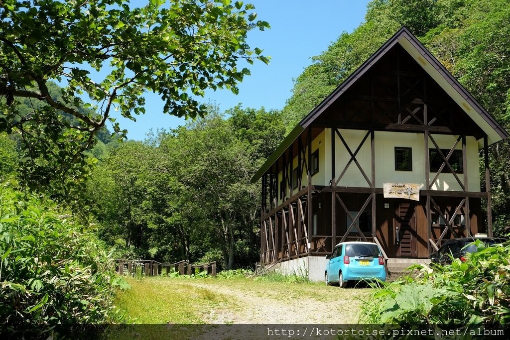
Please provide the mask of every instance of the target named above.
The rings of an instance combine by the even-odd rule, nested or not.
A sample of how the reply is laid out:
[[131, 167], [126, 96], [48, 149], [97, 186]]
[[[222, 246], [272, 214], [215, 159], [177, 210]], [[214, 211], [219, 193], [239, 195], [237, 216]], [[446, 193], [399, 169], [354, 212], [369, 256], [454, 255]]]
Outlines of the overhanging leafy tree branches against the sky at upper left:
[[[145, 91], [161, 96], [166, 113], [202, 116], [205, 107], [196, 96], [217, 88], [237, 93], [238, 82], [249, 74], [238, 68], [241, 59], [268, 62], [261, 49], [246, 43], [249, 30], [269, 27], [256, 20], [252, 5], [165, 3], [0, 3], [0, 129], [21, 135], [27, 172], [38, 182], [87, 173], [83, 151], [101, 127], [110, 120], [116, 133], [125, 133], [112, 109], [135, 119], [144, 113]], [[107, 72], [103, 80], [93, 79], [91, 72], [98, 71]], [[50, 91], [52, 80], [65, 84], [59, 98]], [[31, 103], [28, 113], [17, 110], [22, 98]], [[62, 119], [62, 113], [72, 119]]]

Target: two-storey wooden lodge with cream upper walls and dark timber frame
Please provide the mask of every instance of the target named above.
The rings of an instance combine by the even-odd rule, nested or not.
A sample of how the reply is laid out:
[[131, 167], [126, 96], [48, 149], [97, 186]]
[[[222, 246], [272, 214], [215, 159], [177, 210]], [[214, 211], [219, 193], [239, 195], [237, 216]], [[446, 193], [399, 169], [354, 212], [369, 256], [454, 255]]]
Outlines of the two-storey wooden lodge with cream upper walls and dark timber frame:
[[425, 259], [445, 240], [491, 236], [488, 146], [507, 137], [400, 29], [253, 176], [262, 178], [261, 263], [307, 257], [310, 277], [322, 279], [324, 255], [343, 241]]

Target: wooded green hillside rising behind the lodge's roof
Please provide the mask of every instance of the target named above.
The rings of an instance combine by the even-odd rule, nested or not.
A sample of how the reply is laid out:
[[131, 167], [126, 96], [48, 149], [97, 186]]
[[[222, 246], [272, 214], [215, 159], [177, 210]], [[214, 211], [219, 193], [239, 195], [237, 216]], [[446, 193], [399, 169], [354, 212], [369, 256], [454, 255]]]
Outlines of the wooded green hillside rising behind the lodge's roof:
[[[506, 130], [510, 130], [510, 3], [506, 0], [373, 0], [365, 21], [305, 68], [283, 110], [287, 132], [406, 25]], [[482, 162], [483, 163], [483, 159]], [[510, 142], [490, 148], [492, 215], [510, 212]], [[481, 164], [483, 166], [483, 164]], [[484, 169], [484, 168], [483, 168]], [[484, 172], [480, 182], [484, 186]], [[501, 227], [499, 227], [501, 226]]]

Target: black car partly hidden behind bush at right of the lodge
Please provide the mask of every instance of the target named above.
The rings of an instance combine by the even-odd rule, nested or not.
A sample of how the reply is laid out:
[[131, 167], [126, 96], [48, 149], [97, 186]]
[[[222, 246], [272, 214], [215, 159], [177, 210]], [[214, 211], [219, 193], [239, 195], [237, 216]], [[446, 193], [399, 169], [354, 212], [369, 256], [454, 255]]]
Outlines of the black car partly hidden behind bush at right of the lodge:
[[475, 244], [472, 244], [476, 240], [483, 242], [486, 247], [494, 244], [501, 244], [506, 242], [506, 239], [502, 238], [462, 238], [448, 240], [439, 248], [439, 250], [429, 256], [430, 261], [440, 264], [451, 263], [452, 257], [458, 258], [461, 261], [466, 260], [466, 253], [474, 253], [478, 250]]

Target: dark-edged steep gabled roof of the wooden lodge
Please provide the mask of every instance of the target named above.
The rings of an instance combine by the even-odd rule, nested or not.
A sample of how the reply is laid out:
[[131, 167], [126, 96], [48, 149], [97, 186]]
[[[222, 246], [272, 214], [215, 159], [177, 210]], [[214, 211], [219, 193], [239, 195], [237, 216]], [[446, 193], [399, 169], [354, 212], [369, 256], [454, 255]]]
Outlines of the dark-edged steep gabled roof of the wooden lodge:
[[[453, 75], [423, 46], [423, 44], [406, 28], [402, 27], [385, 42], [358, 69], [350, 74], [333, 92], [322, 100], [305, 116], [284, 141], [269, 156], [262, 167], [253, 175], [251, 182], [256, 182], [276, 162], [279, 156], [299, 137], [305, 128], [334, 103], [347, 89], [365, 74], [395, 44], [400, 44], [411, 57], [437, 82], [443, 90], [458, 104], [466, 114], [487, 134], [489, 144], [497, 143], [508, 137], [506, 130], [492, 117], [475, 98], [455, 79]], [[482, 147], [482, 141], [478, 142]]]

